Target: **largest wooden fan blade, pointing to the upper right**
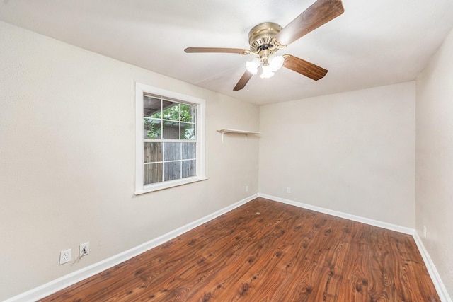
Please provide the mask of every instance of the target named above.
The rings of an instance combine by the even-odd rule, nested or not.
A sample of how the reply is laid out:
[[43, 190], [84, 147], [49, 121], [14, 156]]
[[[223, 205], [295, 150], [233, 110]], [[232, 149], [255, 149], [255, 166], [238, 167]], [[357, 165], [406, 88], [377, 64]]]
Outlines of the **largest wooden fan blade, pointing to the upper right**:
[[281, 45], [289, 45], [311, 30], [340, 16], [344, 11], [341, 0], [318, 0], [280, 30], [275, 39]]

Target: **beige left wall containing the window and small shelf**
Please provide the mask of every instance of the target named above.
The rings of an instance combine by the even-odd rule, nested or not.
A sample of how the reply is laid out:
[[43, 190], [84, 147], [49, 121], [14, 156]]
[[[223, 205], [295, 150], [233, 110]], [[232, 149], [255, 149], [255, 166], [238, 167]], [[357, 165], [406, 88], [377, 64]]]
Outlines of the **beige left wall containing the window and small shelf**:
[[[258, 139], [216, 131], [258, 106], [1, 22], [0, 45], [0, 300], [258, 192]], [[134, 196], [135, 82], [206, 100], [209, 180]]]

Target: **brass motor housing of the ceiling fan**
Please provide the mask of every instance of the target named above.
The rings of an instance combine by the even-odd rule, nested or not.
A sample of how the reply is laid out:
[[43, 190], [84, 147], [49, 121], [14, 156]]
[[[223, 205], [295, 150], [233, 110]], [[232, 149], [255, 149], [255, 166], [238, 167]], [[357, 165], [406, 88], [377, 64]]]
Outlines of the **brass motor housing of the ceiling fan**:
[[280, 33], [280, 30], [282, 27], [273, 22], [260, 23], [252, 28], [248, 33], [251, 52], [257, 54], [261, 50], [273, 52], [279, 49], [280, 45], [275, 41], [275, 36]]

